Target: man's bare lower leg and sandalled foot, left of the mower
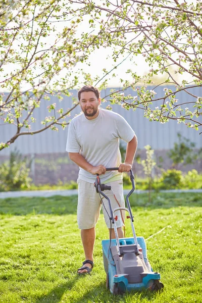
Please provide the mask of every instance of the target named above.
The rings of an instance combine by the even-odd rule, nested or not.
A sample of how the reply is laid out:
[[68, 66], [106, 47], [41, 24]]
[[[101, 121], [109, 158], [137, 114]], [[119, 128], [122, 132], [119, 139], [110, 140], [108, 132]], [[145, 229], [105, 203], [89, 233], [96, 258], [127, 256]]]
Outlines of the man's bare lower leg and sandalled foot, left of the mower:
[[[83, 243], [83, 249], [85, 254], [85, 260], [93, 261], [93, 249], [94, 249], [94, 242], [95, 242], [95, 228], [90, 229], [81, 229], [81, 240]], [[89, 268], [92, 267], [91, 264], [86, 263], [84, 267], [87, 266]], [[79, 273], [86, 273], [87, 270], [79, 270]]]

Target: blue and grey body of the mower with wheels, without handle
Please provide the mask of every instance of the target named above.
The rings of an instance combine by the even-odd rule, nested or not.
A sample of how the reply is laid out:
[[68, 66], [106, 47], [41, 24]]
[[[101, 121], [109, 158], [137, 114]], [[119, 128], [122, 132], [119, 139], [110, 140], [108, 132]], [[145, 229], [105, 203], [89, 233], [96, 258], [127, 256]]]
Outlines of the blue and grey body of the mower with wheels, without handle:
[[[154, 272], [146, 256], [143, 237], [137, 237], [138, 249], [134, 238], [119, 239], [121, 256], [118, 254], [117, 240], [103, 240], [103, 259], [107, 274], [107, 287], [113, 294], [130, 290], [149, 288], [160, 290], [163, 284], [160, 273]], [[137, 254], [138, 251], [138, 254]]]

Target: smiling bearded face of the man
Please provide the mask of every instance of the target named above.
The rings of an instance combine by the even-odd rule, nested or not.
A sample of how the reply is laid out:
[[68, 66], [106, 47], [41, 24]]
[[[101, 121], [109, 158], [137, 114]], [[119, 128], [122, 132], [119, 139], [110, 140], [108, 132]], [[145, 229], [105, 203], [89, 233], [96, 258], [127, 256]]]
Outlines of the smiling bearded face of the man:
[[86, 117], [93, 117], [98, 111], [101, 99], [93, 91], [83, 91], [80, 96], [80, 107]]

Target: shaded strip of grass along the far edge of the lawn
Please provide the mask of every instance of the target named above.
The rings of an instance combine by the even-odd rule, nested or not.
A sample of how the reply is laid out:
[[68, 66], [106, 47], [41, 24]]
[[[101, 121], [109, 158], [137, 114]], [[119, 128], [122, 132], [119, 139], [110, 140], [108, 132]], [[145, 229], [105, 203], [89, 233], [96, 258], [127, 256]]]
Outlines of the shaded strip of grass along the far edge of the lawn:
[[[133, 193], [130, 196], [132, 207], [147, 209], [169, 209], [179, 206], [201, 207], [201, 193], [151, 193], [151, 202], [148, 194]], [[77, 195], [52, 197], [18, 197], [0, 199], [0, 214], [27, 215], [27, 214], [76, 214]]]

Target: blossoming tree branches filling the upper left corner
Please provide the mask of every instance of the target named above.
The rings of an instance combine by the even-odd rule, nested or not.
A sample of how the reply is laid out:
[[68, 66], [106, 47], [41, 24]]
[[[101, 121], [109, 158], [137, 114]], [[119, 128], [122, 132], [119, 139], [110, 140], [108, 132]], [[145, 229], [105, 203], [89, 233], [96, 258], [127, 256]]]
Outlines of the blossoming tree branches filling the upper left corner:
[[69, 109], [65, 103], [59, 108], [50, 103], [37, 130], [33, 129], [34, 112], [51, 96], [62, 102], [72, 95], [70, 89], [80, 82], [89, 83], [89, 75], [82, 69], [73, 71], [88, 59], [93, 41], [78, 35], [83, 17], [76, 16], [70, 2], [11, 0], [1, 2], [0, 11], [0, 119], [16, 126], [15, 133], [0, 142], [2, 150], [21, 135], [48, 128], [58, 131], [58, 125], [64, 129], [69, 124], [71, 111], [78, 105], [74, 96]]

